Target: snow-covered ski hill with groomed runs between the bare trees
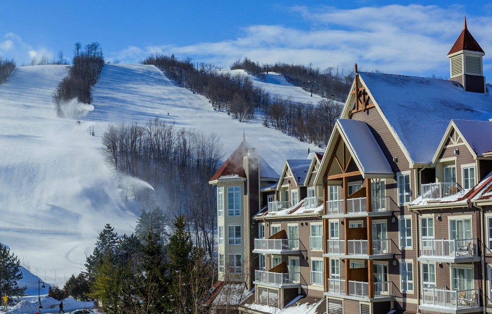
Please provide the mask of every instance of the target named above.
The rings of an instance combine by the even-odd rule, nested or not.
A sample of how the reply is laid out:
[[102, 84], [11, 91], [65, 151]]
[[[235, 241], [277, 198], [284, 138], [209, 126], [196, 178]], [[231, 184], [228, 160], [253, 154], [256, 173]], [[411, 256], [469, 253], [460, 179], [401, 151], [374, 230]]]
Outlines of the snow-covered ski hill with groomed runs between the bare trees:
[[[306, 158], [308, 148], [320, 150], [266, 128], [260, 120], [240, 123], [215, 111], [205, 97], [176, 87], [153, 65], [106, 64], [81, 123], [60, 119], [51, 96], [67, 72], [64, 65], [18, 67], [0, 85], [0, 242], [18, 255], [22, 266], [52, 285], [63, 285], [65, 278], [84, 270], [86, 254], [92, 253], [105, 223], [118, 233], [131, 233], [140, 214], [141, 204], [125, 202], [118, 188], [122, 178], [101, 154], [109, 124], [159, 118], [215, 132], [226, 157], [244, 131], [246, 141], [277, 172], [285, 159]], [[280, 79], [273, 74], [255, 84], [294, 101], [311, 98]], [[123, 179], [149, 187], [135, 178]]]

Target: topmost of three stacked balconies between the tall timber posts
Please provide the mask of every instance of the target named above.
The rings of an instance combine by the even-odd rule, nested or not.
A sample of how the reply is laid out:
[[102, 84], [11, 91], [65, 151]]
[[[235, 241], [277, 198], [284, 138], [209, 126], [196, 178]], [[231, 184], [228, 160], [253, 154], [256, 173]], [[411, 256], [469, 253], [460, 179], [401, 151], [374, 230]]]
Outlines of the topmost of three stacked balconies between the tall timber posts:
[[[389, 196], [371, 197], [371, 214], [369, 216], [391, 214], [390, 205], [391, 198]], [[368, 216], [367, 198], [348, 198], [347, 215]], [[343, 216], [343, 200], [326, 201], [326, 218], [334, 216]]]

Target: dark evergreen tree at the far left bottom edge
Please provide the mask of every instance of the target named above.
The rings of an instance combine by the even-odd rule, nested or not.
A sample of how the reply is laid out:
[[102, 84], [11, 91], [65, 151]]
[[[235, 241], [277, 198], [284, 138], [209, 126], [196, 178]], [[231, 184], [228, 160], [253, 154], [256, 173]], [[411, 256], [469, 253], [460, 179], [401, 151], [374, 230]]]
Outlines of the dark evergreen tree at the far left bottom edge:
[[23, 296], [27, 286], [19, 287], [22, 279], [21, 262], [10, 253], [10, 249], [0, 244], [0, 295]]

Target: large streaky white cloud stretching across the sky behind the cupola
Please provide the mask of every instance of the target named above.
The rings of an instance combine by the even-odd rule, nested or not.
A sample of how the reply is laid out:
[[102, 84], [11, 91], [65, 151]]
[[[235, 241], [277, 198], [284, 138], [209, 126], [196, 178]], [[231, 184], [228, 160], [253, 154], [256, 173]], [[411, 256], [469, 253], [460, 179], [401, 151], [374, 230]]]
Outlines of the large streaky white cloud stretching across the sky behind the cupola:
[[[312, 62], [320, 68], [340, 65], [351, 69], [357, 62], [366, 70], [449, 76], [446, 55], [462, 30], [465, 12], [457, 5], [397, 4], [351, 10], [296, 6], [291, 10], [305, 19], [310, 30], [254, 25], [243, 29], [236, 39], [189, 46], [130, 46], [113, 55], [134, 63], [153, 53], [175, 54], [221, 66], [245, 56], [265, 63]], [[482, 48], [492, 52], [492, 18], [469, 16], [467, 22]], [[491, 63], [487, 56], [484, 60]]]

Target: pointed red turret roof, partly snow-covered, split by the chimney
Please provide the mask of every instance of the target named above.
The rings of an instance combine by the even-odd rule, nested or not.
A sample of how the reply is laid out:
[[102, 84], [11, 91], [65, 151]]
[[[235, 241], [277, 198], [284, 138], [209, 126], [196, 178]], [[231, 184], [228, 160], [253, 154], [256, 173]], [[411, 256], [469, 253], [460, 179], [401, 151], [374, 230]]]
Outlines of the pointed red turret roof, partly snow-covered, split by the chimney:
[[[224, 179], [224, 178], [246, 178], [246, 173], [244, 170], [244, 157], [247, 156], [248, 150], [253, 149], [246, 140], [243, 140], [239, 144], [238, 148], [227, 158], [227, 160], [220, 166], [220, 168], [215, 172], [214, 176], [210, 178], [210, 181]], [[259, 156], [258, 156], [259, 157]], [[260, 163], [260, 178], [272, 178], [278, 179], [279, 176], [270, 165], [259, 157]]]

